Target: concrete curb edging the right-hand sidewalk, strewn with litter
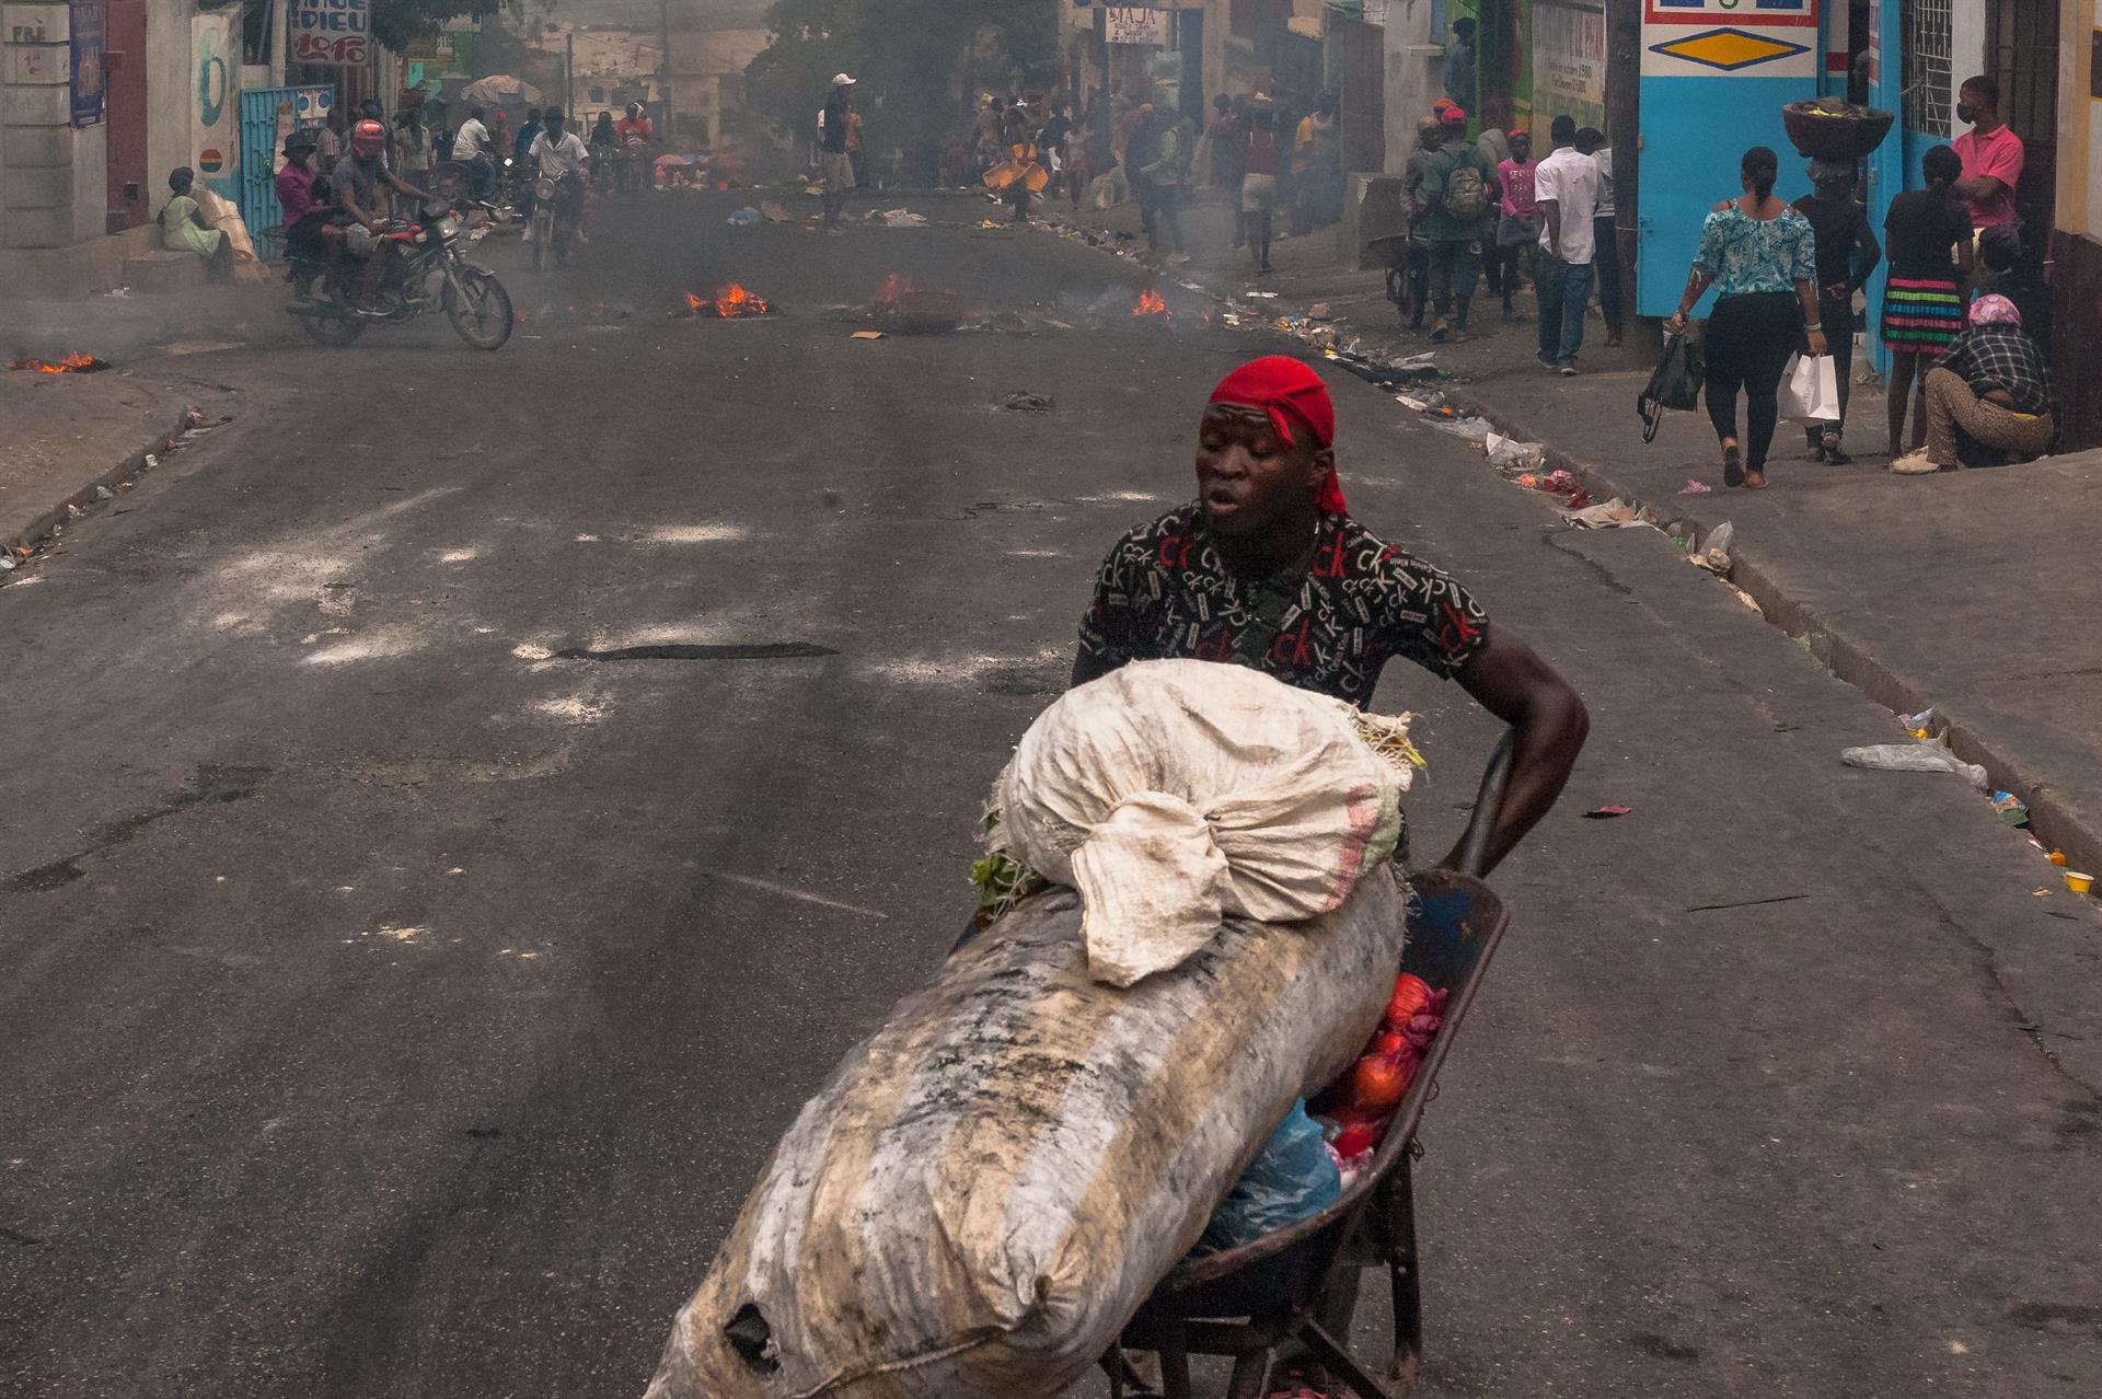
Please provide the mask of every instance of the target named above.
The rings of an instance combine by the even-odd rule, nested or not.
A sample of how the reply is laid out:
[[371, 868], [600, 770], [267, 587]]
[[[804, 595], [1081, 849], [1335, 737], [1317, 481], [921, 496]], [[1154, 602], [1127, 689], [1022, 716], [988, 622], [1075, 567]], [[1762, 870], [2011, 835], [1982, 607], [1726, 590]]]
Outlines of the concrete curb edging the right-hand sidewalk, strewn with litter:
[[[1551, 445], [1524, 422], [1511, 418], [1511, 414], [1501, 412], [1490, 401], [1465, 389], [1446, 389], [1444, 393], [1446, 401], [1455, 408], [1486, 418], [1505, 437], [1543, 443], [1547, 447], [1547, 468], [1568, 471], [1585, 483], [1593, 500], [1619, 496], [1631, 506], [1650, 506], [1661, 519], [1684, 519], [1703, 534], [1722, 523], [1719, 519], [1703, 519], [1696, 508], [1688, 508], [1677, 498], [1663, 502], [1646, 500], [1640, 492], [1614, 481], [1604, 466], [1585, 462]], [[1719, 500], [1719, 496], [1698, 496], [1694, 500], [1711, 502]], [[1900, 674], [1877, 653], [1875, 643], [1867, 636], [1831, 624], [1816, 603], [1816, 588], [1789, 578], [1787, 565], [1764, 559], [1757, 544], [1732, 544], [1730, 563], [1730, 582], [1759, 605], [1770, 624], [1801, 641], [1818, 664], [1896, 714], [1917, 714], [1934, 706], [1936, 727], [1949, 729], [1951, 750], [1965, 763], [1984, 767], [1997, 788], [2014, 792], [2028, 805], [2028, 821], [2039, 840], [2062, 849], [2068, 865], [2075, 870], [2102, 868], [2102, 809], [2094, 805], [2096, 794], [2062, 788], [2028, 754], [2007, 739], [1995, 737], [1988, 721], [1978, 723], [1961, 706], [1951, 706], [1946, 697], [1934, 695], [1934, 691]], [[1835, 763], [1837, 758], [1839, 754], [1833, 754]]]

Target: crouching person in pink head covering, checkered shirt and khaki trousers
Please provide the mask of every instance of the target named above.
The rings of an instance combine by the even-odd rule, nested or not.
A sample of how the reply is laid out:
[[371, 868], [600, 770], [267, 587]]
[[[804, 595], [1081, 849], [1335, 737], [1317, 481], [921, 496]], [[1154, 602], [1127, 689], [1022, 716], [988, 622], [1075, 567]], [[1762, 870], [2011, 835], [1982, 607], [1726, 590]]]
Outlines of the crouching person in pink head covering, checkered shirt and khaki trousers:
[[1970, 326], [1928, 370], [1928, 445], [1896, 458], [1902, 477], [1957, 466], [2003, 466], [2049, 450], [2052, 370], [2005, 296], [1972, 302]]

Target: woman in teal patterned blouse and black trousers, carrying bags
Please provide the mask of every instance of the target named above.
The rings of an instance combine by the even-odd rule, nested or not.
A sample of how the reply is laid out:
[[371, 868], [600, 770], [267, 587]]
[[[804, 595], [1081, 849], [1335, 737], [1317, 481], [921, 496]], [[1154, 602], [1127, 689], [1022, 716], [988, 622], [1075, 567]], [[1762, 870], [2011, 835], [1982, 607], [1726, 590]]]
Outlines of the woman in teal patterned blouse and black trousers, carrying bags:
[[[1774, 197], [1780, 160], [1764, 145], [1745, 151], [1745, 193], [1717, 204], [1701, 225], [1701, 252], [1665, 330], [1679, 334], [1703, 292], [1715, 288], [1707, 321], [1709, 422], [1722, 441], [1722, 483], [1766, 489], [1766, 450], [1780, 420], [1780, 376], [1804, 347], [1825, 353], [1818, 321], [1818, 250], [1810, 221]], [[1736, 437], [1736, 395], [1745, 393], [1745, 441]]]

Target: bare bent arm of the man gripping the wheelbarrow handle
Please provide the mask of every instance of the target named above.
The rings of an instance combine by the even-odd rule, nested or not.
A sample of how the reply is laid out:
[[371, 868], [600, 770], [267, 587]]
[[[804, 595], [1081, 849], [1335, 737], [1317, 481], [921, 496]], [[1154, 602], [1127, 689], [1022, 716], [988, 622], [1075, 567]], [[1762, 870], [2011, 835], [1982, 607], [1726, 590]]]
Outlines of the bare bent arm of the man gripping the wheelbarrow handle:
[[[1570, 683], [1501, 626], [1490, 628], [1488, 645], [1461, 666], [1457, 678], [1461, 689], [1511, 725], [1518, 735], [1503, 813], [1488, 836], [1488, 868], [1482, 870], [1488, 874], [1562, 796], [1562, 786], [1570, 779], [1576, 754], [1591, 733], [1591, 716]], [[1459, 855], [1455, 844], [1452, 853], [1438, 861], [1440, 868], [1459, 868]]]

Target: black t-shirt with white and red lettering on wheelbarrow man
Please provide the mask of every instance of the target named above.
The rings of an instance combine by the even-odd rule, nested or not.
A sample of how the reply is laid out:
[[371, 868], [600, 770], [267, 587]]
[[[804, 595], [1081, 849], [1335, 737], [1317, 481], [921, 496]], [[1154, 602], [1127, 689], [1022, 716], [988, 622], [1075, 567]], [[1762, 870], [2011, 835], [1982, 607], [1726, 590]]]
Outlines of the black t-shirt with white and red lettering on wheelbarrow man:
[[1358, 708], [1373, 702], [1387, 660], [1450, 678], [1486, 641], [1488, 613], [1465, 588], [1347, 515], [1322, 517], [1295, 588], [1289, 571], [1236, 576], [1198, 504], [1118, 540], [1080, 618], [1080, 651], [1110, 668], [1230, 662]]

